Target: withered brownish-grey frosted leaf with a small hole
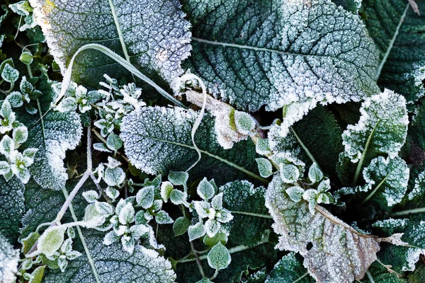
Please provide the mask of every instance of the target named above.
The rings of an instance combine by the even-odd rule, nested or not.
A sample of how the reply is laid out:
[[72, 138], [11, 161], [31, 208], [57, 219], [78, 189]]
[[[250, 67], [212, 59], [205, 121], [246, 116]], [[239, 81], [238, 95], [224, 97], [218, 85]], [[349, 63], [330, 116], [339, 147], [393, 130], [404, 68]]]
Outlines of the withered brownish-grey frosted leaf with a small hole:
[[315, 214], [308, 202], [293, 202], [282, 180], [268, 185], [266, 205], [273, 216], [273, 229], [280, 235], [277, 248], [300, 253], [304, 266], [318, 282], [353, 282], [361, 279], [387, 238], [364, 235], [317, 205]]

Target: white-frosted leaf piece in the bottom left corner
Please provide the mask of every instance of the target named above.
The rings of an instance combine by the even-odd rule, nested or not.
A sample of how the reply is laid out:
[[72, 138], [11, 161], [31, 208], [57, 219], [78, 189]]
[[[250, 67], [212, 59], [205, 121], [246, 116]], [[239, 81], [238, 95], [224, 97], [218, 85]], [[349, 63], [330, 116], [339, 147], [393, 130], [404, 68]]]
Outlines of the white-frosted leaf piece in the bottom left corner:
[[7, 239], [0, 234], [0, 282], [13, 283], [18, 272], [19, 250], [14, 250]]

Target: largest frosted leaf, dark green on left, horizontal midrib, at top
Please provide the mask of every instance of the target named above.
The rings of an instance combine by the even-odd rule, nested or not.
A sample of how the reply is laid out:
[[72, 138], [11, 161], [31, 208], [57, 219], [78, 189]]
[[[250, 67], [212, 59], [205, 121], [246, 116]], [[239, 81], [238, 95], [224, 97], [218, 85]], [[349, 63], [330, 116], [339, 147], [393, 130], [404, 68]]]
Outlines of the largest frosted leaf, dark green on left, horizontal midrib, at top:
[[309, 2], [183, 1], [194, 37], [187, 67], [239, 109], [288, 105], [292, 122], [319, 102], [377, 93], [378, 54], [359, 18]]

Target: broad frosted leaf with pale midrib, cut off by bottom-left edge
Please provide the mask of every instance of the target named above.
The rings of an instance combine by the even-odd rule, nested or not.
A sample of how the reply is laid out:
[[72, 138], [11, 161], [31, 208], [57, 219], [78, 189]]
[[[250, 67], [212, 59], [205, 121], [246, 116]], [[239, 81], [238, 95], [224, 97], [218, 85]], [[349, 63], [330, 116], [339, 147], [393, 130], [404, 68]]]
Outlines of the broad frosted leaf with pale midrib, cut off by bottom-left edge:
[[[94, 260], [100, 282], [171, 283], [176, 279], [176, 274], [171, 269], [171, 262], [154, 250], [136, 246], [135, 252], [129, 255], [123, 250], [120, 243], [105, 246], [103, 236], [86, 236], [86, 243]], [[81, 253], [84, 253], [82, 248], [79, 248]], [[43, 282], [95, 283], [96, 279], [86, 255], [82, 255], [70, 261], [65, 272], [50, 270]]]

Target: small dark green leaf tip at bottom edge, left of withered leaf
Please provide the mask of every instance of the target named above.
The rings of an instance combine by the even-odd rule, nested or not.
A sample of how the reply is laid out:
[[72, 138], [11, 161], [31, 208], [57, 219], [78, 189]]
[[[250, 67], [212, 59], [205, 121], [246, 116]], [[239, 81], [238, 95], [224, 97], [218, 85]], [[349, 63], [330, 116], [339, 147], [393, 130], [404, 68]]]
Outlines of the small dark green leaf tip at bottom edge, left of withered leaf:
[[276, 263], [265, 283], [313, 283], [314, 279], [307, 273], [295, 253], [288, 253]]

